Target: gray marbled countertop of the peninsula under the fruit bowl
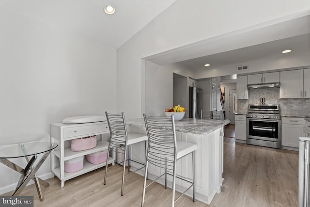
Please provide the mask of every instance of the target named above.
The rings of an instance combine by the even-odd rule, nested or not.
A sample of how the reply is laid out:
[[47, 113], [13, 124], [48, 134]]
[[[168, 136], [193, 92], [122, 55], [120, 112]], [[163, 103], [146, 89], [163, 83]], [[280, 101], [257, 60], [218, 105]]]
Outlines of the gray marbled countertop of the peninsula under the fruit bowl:
[[[183, 118], [181, 121], [175, 122], [175, 130], [184, 133], [206, 135], [220, 127], [228, 125], [230, 122], [231, 121], [229, 120]], [[145, 127], [143, 118], [131, 119], [128, 121], [126, 120], [126, 125], [133, 127]]]

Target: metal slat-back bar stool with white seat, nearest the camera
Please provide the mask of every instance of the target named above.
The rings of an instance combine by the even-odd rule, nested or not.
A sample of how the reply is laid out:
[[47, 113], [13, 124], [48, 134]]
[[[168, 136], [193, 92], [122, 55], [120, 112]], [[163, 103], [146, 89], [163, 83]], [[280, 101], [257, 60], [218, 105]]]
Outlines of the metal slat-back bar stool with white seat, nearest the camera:
[[[142, 203], [141, 207], [144, 205], [145, 189], [149, 187], [156, 179], [165, 175], [165, 188], [167, 189], [167, 175], [172, 176], [172, 204], [174, 203], [191, 187], [193, 188], [193, 202], [196, 201], [195, 198], [195, 151], [197, 145], [193, 143], [187, 143], [176, 140], [175, 135], [175, 125], [174, 125], [174, 115], [171, 118], [165, 117], [152, 117], [143, 114], [146, 133], [148, 136], [148, 149], [146, 156], [145, 174], [144, 174], [144, 184], [142, 193]], [[186, 157], [192, 154], [192, 166], [193, 166], [193, 180], [187, 180], [183, 177], [176, 175], [176, 162], [178, 159]], [[148, 165], [153, 164], [159, 168], [164, 169], [164, 173], [157, 177], [154, 181], [146, 186]], [[172, 174], [167, 171], [172, 171]], [[189, 182], [191, 185], [184, 191], [177, 199], [174, 200], [175, 195], [175, 179], [179, 178], [184, 181]]]

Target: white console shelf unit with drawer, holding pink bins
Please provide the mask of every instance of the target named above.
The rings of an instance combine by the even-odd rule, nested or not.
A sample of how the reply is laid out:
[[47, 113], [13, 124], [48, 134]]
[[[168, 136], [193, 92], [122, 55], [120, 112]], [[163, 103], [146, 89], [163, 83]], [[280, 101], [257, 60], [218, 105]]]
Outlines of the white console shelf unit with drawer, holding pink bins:
[[[65, 160], [108, 149], [109, 140], [106, 139], [105, 141], [103, 136], [106, 133], [109, 133], [107, 121], [86, 124], [55, 123], [50, 125], [50, 140], [51, 142], [58, 143], [58, 147], [51, 153], [51, 170], [61, 180], [61, 187], [64, 186], [64, 181], [66, 180], [106, 165], [106, 162], [92, 164], [84, 159], [82, 170], [75, 173], [64, 172]], [[93, 135], [100, 135], [97, 137], [96, 147], [78, 152], [71, 151], [71, 140]], [[112, 158], [109, 158], [109, 164], [112, 163], [114, 165], [114, 161], [115, 153], [112, 154]]]

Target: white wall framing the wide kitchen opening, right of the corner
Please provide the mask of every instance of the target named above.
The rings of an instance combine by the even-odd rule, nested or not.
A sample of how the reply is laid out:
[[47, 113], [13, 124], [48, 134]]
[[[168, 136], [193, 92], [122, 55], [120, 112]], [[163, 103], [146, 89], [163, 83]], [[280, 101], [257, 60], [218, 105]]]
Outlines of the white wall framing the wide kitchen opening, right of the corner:
[[[141, 58], [307, 10], [310, 1], [196, 0], [191, 2], [191, 8], [195, 12], [188, 12], [188, 1], [175, 1], [118, 48], [118, 110], [125, 111], [132, 118], [141, 117], [144, 111], [141, 87], [145, 68], [141, 65]], [[258, 39], [253, 41], [259, 44]], [[214, 76], [218, 74], [208, 77]]]

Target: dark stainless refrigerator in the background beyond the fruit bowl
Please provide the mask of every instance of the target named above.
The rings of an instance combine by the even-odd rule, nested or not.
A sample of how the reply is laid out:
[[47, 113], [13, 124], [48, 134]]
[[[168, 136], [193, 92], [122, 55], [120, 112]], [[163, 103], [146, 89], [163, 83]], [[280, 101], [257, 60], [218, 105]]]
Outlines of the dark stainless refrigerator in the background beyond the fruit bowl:
[[188, 117], [200, 118], [202, 111], [202, 89], [189, 86]]

